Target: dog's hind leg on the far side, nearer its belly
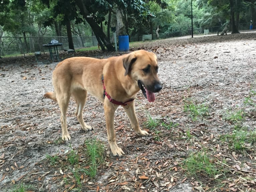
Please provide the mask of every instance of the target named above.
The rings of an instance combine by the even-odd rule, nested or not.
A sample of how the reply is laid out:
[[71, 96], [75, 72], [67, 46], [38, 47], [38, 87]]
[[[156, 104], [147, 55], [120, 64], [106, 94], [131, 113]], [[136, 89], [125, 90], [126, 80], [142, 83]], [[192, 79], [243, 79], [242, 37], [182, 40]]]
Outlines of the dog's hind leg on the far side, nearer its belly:
[[77, 116], [77, 120], [80, 123], [82, 129], [84, 131], [91, 131], [92, 127], [86, 125], [86, 123], [84, 122], [83, 119], [83, 108], [87, 99], [87, 91], [86, 90], [76, 90], [72, 93], [72, 95], [74, 96], [76, 102], [77, 102], [77, 111], [76, 111], [76, 116]]

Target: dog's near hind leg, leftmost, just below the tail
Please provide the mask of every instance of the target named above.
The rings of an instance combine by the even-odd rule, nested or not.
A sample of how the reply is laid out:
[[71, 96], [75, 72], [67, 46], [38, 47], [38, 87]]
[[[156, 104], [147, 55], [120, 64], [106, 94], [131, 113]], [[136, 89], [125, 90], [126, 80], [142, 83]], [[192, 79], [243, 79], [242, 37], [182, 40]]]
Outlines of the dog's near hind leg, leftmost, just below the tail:
[[62, 140], [71, 140], [67, 129], [67, 119], [66, 114], [69, 106], [70, 94], [65, 92], [64, 94], [57, 94], [57, 102], [59, 104], [60, 112], [61, 112], [61, 129], [62, 129]]

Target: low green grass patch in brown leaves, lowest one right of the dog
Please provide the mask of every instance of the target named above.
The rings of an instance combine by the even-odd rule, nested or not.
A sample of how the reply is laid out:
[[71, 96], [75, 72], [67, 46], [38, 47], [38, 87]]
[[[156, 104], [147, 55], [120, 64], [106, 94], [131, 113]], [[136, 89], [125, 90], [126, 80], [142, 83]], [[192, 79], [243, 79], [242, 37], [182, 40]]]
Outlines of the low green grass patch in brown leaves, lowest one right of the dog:
[[191, 153], [182, 163], [182, 168], [188, 175], [198, 176], [200, 174], [214, 178], [218, 173], [213, 159], [207, 154], [207, 151]]

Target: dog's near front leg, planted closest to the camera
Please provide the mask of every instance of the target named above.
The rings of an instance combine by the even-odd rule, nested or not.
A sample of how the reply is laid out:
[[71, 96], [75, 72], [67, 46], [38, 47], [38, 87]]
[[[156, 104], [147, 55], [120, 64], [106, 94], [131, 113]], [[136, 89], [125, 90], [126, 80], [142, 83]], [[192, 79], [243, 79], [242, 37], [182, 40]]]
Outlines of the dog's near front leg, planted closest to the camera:
[[117, 105], [114, 105], [110, 103], [107, 99], [105, 99], [104, 114], [105, 114], [105, 120], [106, 120], [106, 126], [107, 126], [108, 142], [113, 155], [121, 157], [122, 155], [124, 155], [124, 152], [121, 148], [117, 146], [115, 129], [114, 129], [114, 116], [115, 116], [115, 111], [117, 107], [118, 107]]

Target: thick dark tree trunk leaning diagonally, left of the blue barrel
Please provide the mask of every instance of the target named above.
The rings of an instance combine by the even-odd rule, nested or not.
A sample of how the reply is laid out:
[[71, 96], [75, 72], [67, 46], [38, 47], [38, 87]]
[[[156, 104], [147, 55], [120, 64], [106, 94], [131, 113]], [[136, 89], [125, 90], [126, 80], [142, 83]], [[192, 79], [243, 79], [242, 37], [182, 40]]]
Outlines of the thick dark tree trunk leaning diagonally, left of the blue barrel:
[[[105, 51], [105, 46], [107, 47], [107, 49], [109, 51], [113, 51], [114, 50], [114, 46], [111, 45], [110, 40], [107, 38], [107, 36], [104, 34], [104, 32], [101, 30], [100, 26], [95, 22], [95, 20], [93, 18], [88, 18], [87, 15], [89, 15], [88, 10], [85, 7], [85, 4], [83, 2], [83, 0], [75, 0], [80, 11], [81, 14], [83, 15], [83, 17], [85, 18], [85, 20], [89, 23], [89, 25], [91, 26], [97, 40], [98, 43], [101, 46], [101, 50]], [[105, 46], [104, 46], [105, 45]]]

